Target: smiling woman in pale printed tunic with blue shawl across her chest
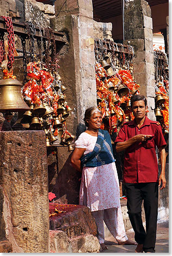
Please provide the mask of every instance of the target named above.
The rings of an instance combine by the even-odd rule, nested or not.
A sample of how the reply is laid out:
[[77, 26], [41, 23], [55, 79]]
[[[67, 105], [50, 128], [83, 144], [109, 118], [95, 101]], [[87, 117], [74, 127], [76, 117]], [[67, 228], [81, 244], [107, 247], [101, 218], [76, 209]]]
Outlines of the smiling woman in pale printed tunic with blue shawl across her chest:
[[88, 129], [78, 137], [71, 157], [72, 166], [82, 172], [79, 204], [90, 208], [102, 249], [108, 249], [103, 221], [119, 245], [136, 245], [125, 233], [112, 144], [108, 131], [100, 129], [102, 113], [96, 107], [87, 108], [84, 121]]

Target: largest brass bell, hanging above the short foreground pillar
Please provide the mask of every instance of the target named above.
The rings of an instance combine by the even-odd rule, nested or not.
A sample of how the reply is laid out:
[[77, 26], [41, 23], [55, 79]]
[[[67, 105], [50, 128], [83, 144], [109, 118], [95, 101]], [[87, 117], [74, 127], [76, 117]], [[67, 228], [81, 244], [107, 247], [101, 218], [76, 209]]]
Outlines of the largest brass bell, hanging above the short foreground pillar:
[[20, 112], [30, 109], [22, 99], [21, 86], [21, 82], [16, 79], [0, 80], [0, 112]]

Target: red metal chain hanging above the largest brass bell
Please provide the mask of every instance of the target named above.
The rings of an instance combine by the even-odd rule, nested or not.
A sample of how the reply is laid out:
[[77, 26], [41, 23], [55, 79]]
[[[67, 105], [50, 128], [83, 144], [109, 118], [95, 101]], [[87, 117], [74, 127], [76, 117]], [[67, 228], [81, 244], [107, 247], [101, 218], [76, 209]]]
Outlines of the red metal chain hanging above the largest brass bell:
[[14, 62], [14, 29], [13, 29], [13, 22], [10, 17], [1, 16], [5, 20], [7, 25], [8, 31], [8, 69], [12, 68]]

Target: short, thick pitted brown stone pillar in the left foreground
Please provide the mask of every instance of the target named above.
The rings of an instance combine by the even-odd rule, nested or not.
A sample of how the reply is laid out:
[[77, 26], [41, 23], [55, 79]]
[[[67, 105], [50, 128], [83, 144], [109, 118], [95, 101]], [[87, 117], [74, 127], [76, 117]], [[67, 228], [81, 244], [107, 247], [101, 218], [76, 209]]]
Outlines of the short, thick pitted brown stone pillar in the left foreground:
[[14, 253], [49, 252], [44, 131], [0, 132], [0, 240]]

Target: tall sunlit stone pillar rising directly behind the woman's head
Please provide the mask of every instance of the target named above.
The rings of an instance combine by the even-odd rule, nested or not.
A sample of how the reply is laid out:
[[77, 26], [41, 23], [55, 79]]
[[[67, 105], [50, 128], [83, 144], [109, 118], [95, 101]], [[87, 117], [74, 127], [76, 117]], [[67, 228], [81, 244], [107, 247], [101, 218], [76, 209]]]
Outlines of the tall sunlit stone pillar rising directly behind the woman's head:
[[96, 106], [93, 4], [91, 0], [63, 3], [56, 1], [58, 17], [50, 19], [50, 24], [54, 30], [66, 32], [69, 41], [59, 54], [59, 73], [68, 88], [67, 102], [73, 107], [67, 125], [74, 133], [77, 129], [81, 133], [85, 109]]

